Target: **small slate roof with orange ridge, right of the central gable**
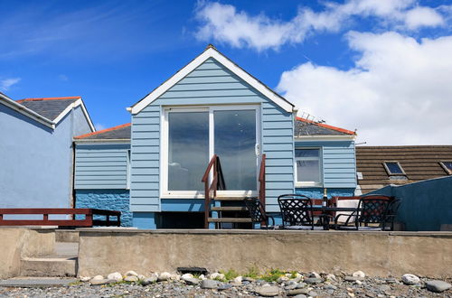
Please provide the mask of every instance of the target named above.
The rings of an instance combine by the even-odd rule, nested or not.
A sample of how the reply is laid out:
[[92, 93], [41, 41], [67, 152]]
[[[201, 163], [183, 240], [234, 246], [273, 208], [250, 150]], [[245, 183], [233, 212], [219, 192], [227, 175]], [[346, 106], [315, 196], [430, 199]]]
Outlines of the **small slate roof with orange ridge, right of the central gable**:
[[356, 133], [336, 126], [328, 126], [297, 116], [294, 127], [295, 137], [304, 136], [355, 136]]

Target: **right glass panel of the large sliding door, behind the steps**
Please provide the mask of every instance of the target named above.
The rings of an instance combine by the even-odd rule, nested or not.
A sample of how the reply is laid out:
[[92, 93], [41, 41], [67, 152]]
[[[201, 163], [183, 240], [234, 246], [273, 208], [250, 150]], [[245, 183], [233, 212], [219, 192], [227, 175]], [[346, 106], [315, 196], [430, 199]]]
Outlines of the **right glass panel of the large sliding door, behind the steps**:
[[257, 189], [256, 110], [214, 110], [214, 152], [227, 191]]

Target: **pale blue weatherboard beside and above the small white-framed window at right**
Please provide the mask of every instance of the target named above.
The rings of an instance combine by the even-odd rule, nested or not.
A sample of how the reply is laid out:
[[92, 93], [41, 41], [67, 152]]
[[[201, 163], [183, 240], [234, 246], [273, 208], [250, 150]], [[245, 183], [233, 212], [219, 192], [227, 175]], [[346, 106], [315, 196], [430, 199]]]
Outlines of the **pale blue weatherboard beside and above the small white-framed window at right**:
[[323, 182], [326, 189], [356, 187], [354, 141], [296, 142], [295, 147], [322, 149]]

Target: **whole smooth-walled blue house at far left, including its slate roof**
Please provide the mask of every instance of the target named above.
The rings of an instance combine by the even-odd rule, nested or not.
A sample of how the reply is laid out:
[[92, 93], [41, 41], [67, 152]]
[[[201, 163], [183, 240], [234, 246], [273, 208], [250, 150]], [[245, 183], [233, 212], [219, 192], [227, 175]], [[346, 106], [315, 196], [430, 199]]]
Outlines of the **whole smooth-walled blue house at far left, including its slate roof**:
[[75, 135], [95, 131], [80, 97], [0, 93], [0, 208], [71, 208]]

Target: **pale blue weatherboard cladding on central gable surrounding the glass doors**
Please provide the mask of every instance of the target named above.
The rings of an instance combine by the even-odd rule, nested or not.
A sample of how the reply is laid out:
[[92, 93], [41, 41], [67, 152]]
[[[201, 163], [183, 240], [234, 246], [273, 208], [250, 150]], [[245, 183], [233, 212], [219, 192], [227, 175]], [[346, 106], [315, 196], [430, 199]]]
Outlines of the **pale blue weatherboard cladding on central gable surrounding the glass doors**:
[[161, 106], [212, 104], [261, 104], [262, 151], [268, 157], [268, 210], [278, 210], [279, 194], [294, 191], [292, 114], [283, 111], [211, 58], [132, 116], [132, 211], [160, 210]]

